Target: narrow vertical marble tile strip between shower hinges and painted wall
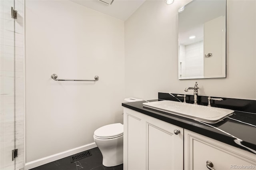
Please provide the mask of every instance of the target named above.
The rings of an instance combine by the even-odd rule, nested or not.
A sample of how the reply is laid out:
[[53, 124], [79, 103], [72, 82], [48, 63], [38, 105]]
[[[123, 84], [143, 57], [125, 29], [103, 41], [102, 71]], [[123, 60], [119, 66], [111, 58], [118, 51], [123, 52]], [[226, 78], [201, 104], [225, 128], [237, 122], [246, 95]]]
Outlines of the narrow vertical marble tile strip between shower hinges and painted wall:
[[24, 23], [23, 0], [15, 0], [15, 170], [24, 168]]

